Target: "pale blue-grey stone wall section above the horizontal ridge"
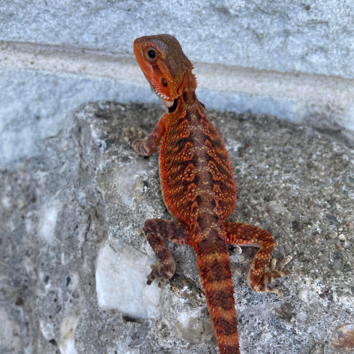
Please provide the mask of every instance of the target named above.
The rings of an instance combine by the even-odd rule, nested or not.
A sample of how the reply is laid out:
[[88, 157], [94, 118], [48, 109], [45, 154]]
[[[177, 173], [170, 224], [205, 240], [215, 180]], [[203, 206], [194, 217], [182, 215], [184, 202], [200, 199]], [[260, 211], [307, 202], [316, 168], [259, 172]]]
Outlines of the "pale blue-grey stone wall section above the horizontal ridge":
[[132, 54], [170, 33], [194, 62], [354, 78], [352, 1], [8, 1], [1, 39]]

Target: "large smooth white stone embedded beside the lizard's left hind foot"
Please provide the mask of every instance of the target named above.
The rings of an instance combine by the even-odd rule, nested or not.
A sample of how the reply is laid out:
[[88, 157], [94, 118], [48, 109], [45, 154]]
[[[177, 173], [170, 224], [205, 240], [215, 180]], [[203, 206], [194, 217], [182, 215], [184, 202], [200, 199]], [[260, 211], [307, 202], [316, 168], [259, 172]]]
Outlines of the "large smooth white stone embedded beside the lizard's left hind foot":
[[99, 306], [134, 318], [156, 318], [161, 289], [146, 284], [154, 260], [124, 242], [109, 239], [99, 250], [96, 292]]

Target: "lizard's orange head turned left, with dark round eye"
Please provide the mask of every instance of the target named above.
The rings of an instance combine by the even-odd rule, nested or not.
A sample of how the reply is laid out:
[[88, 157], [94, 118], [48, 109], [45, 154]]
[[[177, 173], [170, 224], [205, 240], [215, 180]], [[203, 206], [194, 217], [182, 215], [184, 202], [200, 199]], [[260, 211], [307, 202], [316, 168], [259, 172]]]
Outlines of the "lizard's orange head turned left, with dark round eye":
[[193, 69], [177, 39], [169, 34], [137, 38], [134, 54], [156, 95], [166, 107], [172, 107], [174, 99], [182, 95], [185, 73]]

